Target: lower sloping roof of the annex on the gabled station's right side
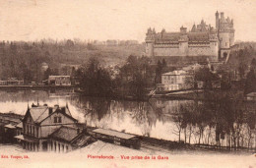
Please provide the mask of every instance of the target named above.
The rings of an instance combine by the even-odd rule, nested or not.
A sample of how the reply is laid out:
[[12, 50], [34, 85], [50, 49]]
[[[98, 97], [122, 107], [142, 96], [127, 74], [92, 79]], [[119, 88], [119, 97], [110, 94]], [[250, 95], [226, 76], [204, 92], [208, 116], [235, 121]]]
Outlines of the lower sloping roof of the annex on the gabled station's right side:
[[61, 126], [58, 130], [53, 132], [49, 137], [57, 140], [71, 141], [78, 136], [77, 129], [71, 127]]

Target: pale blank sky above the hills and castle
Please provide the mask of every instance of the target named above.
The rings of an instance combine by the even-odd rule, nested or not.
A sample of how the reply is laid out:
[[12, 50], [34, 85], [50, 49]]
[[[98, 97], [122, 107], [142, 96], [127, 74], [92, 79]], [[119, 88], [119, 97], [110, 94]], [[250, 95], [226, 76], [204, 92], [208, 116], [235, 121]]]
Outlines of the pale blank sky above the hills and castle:
[[235, 40], [256, 41], [256, 0], [0, 0], [0, 40], [144, 41], [150, 27], [215, 27], [217, 10], [233, 19]]

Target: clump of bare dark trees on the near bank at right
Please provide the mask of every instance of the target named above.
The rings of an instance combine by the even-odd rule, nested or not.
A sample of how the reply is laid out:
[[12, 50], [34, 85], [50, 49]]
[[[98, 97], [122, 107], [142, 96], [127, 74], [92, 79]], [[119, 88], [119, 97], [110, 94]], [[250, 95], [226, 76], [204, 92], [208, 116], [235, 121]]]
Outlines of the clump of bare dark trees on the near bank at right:
[[[255, 138], [255, 106], [239, 93], [208, 93], [211, 101], [185, 103], [174, 110], [174, 133], [190, 143], [217, 144], [229, 148], [252, 147]], [[214, 139], [215, 137], [215, 139]]]

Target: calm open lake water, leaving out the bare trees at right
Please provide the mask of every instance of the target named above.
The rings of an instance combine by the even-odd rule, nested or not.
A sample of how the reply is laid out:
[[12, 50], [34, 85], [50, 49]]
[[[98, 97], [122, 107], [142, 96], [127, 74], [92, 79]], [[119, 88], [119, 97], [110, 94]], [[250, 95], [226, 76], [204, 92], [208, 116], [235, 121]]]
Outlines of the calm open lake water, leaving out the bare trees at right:
[[[37, 102], [37, 99], [40, 104], [47, 103], [50, 106], [54, 104], [64, 106], [68, 103], [73, 117], [80, 122], [87, 122], [90, 126], [163, 140], [179, 140], [179, 130], [181, 130], [181, 140], [184, 140], [186, 135], [187, 142], [190, 137], [191, 143], [199, 140], [201, 143], [216, 143], [216, 127], [211, 128], [204, 121], [199, 124], [192, 123], [186, 130], [180, 129], [182, 122], [179, 122], [175, 112], [182, 104], [195, 103], [192, 100], [151, 99], [150, 102], [136, 102], [85, 97], [60, 90], [0, 91], [0, 112], [13, 111], [24, 115], [28, 103], [31, 106], [32, 103]], [[205, 117], [207, 120], [207, 116]], [[228, 140], [229, 138], [224, 135], [220, 142], [225, 145]], [[255, 145], [253, 141], [255, 140], [251, 140], [252, 145]], [[243, 145], [247, 144], [244, 142]]]

